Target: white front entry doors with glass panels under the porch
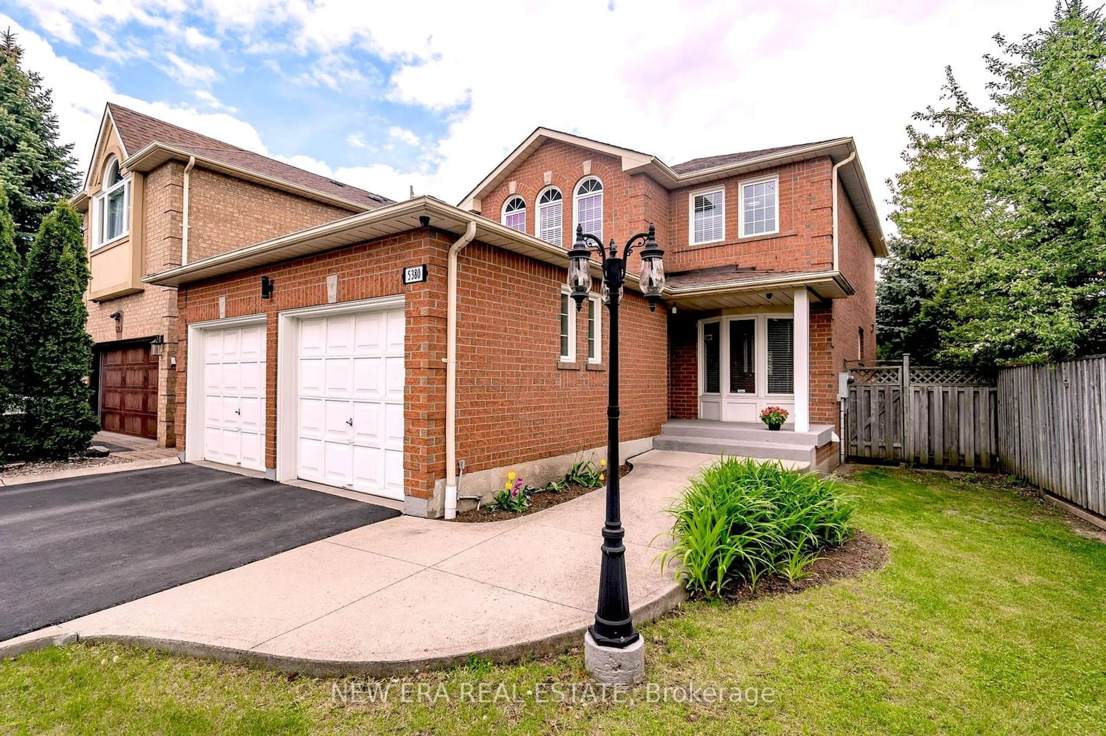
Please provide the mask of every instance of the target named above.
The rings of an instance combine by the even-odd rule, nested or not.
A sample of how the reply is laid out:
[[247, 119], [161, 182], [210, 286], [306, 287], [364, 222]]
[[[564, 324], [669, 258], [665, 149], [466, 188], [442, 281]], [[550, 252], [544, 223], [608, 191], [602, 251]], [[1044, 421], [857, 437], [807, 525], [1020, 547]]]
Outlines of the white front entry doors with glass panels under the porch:
[[760, 422], [765, 407], [793, 412], [793, 326], [783, 314], [701, 320], [699, 418]]

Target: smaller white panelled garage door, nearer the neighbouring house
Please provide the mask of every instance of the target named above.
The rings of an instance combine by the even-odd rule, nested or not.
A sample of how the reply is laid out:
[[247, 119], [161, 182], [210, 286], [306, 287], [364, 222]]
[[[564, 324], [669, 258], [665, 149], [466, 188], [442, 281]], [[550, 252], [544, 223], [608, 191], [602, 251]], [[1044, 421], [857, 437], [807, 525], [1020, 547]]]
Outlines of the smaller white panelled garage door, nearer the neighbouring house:
[[264, 470], [265, 327], [204, 333], [204, 459]]

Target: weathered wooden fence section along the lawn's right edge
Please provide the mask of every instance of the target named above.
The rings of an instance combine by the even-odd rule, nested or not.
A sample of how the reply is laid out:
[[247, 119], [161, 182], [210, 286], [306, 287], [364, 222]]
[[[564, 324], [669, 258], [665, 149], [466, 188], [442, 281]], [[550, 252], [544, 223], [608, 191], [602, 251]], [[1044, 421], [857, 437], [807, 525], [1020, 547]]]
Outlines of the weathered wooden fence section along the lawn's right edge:
[[1002, 469], [1106, 515], [1106, 356], [999, 371]]

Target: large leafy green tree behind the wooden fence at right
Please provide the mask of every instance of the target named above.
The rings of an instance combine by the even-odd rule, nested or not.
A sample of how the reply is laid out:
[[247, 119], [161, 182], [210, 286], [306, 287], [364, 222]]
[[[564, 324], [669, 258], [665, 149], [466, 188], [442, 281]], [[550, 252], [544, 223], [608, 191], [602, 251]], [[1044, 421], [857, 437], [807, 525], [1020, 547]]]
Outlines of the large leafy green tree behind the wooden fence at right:
[[1106, 351], [1106, 23], [1073, 1], [1022, 42], [995, 40], [992, 107], [949, 71], [948, 106], [908, 129], [885, 354], [928, 343], [985, 366]]

